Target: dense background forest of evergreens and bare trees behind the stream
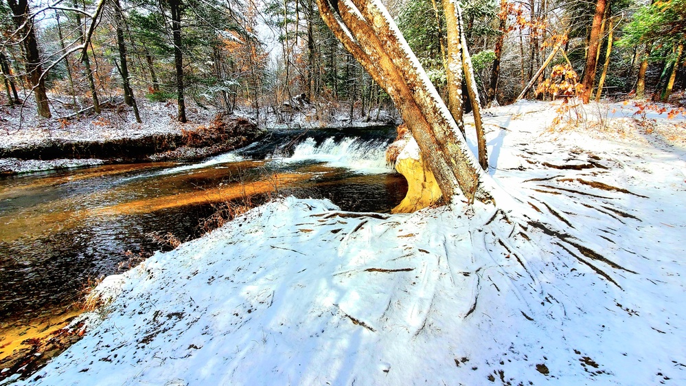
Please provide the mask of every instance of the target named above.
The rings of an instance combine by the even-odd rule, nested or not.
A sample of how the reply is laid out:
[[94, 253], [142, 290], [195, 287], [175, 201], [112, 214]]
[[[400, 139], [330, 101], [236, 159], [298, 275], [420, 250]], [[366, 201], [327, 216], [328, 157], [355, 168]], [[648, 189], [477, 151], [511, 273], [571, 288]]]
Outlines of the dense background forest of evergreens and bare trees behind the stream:
[[[445, 99], [442, 7], [435, 0], [386, 5]], [[484, 104], [577, 93], [591, 54], [601, 90], [594, 98], [683, 103], [686, 0], [470, 0], [462, 8]], [[0, 28], [3, 102], [26, 115], [52, 117], [51, 106], [60, 104], [73, 110], [67, 118], [78, 117], [124, 102], [141, 122], [140, 98], [176, 101], [179, 122], [189, 100], [258, 121], [273, 114], [288, 122], [299, 106], [312, 106], [320, 122], [341, 111], [350, 122], [354, 115], [378, 120], [393, 109], [314, 0], [5, 0]], [[530, 80], [534, 87], [520, 95]], [[30, 98], [35, 104], [26, 106], [35, 107], [25, 109]]]

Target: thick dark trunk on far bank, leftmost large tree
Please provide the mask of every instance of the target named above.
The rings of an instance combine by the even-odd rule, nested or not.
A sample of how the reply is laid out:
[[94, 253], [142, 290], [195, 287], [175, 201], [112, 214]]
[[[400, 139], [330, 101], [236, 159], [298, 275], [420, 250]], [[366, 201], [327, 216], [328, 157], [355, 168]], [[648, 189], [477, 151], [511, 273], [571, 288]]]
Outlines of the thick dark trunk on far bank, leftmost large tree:
[[36, 40], [33, 19], [27, 18], [31, 14], [28, 1], [8, 0], [7, 3], [10, 5], [10, 9], [12, 9], [12, 21], [14, 21], [14, 25], [19, 30], [19, 36], [23, 36], [22, 46], [26, 60], [26, 78], [29, 82], [29, 87], [34, 91], [34, 97], [38, 105], [38, 115], [45, 118], [52, 117], [47, 100], [45, 79], [43, 77], [43, 68], [41, 67], [41, 55], [38, 53], [38, 41]]

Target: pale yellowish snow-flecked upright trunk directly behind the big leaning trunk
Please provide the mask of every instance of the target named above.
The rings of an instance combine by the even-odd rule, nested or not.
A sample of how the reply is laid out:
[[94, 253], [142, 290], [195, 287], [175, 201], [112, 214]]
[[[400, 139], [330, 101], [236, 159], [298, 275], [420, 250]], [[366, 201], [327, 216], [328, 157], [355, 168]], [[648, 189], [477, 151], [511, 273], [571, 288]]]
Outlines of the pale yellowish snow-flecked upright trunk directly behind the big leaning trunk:
[[459, 20], [455, 3], [452, 0], [443, 0], [443, 14], [446, 17], [446, 88], [448, 89], [448, 109], [453, 119], [457, 122], [457, 127], [466, 137], [462, 114], [462, 46], [459, 32]]

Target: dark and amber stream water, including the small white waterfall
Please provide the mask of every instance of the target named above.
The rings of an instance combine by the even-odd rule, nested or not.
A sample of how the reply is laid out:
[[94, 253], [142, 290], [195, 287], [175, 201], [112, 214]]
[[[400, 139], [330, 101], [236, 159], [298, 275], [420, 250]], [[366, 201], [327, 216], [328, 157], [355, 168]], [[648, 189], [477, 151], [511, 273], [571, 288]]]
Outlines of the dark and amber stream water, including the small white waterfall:
[[389, 212], [407, 192], [385, 162], [394, 135], [393, 128], [275, 132], [196, 163], [0, 179], [0, 330], [63, 312], [89, 280], [161, 249], [151, 232], [200, 236], [201, 220], [218, 203], [293, 194], [329, 198], [344, 210]]

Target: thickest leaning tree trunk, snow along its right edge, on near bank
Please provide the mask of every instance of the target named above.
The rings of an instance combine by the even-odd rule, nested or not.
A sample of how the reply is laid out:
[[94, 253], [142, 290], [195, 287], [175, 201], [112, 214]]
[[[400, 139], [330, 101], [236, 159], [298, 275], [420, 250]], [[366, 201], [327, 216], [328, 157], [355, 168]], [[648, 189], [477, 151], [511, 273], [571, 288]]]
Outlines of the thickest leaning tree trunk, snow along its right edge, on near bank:
[[317, 5], [336, 38], [395, 102], [446, 200], [461, 191], [470, 203], [491, 202], [488, 177], [381, 1]]

